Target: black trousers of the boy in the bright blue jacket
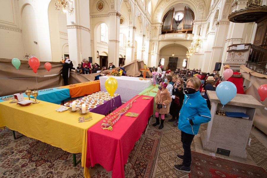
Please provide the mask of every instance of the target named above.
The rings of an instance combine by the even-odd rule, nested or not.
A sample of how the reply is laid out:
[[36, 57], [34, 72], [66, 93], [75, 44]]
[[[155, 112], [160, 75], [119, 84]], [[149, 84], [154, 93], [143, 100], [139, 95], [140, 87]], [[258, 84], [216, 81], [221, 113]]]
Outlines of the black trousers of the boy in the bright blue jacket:
[[191, 143], [193, 141], [195, 135], [187, 134], [181, 131], [181, 141], [183, 143], [184, 148], [184, 157], [183, 157], [183, 165], [190, 167], [191, 164]]

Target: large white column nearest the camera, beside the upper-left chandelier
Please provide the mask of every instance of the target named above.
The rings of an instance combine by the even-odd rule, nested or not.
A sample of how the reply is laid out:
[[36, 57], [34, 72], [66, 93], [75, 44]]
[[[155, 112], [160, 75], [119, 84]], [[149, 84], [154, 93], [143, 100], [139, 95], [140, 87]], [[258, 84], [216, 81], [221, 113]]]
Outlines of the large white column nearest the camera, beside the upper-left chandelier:
[[[90, 37], [90, 14], [88, 0], [73, 1], [74, 14], [67, 14], [69, 55], [74, 66], [83, 58], [92, 57]], [[72, 24], [72, 22], [74, 24]]]

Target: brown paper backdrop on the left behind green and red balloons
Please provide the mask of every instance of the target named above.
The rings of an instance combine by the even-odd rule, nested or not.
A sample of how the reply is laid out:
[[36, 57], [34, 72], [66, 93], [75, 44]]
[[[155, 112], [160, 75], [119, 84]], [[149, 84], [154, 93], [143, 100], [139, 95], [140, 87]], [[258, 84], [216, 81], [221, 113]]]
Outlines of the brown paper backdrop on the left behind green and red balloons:
[[[34, 88], [46, 89], [63, 86], [62, 64], [59, 62], [50, 62], [52, 69], [48, 72], [45, 69], [46, 62], [40, 62], [37, 70], [37, 85], [35, 73], [28, 64], [28, 61], [20, 60], [21, 64], [17, 70], [11, 63], [11, 59], [0, 58], [0, 96], [12, 95], [14, 93], [25, 92], [28, 87], [29, 90]], [[76, 66], [74, 66], [76, 68]], [[47, 76], [53, 75], [54, 76]], [[70, 72], [69, 84], [88, 82], [95, 79], [95, 75], [82, 75]]]

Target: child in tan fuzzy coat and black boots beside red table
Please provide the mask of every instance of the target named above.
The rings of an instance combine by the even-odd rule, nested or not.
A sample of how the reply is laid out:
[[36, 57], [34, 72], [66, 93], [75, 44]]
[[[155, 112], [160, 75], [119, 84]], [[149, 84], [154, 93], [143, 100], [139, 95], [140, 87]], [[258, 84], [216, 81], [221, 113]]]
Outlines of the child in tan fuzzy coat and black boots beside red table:
[[152, 124], [153, 126], [159, 125], [159, 114], [161, 117], [160, 126], [158, 129], [162, 129], [164, 127], [164, 115], [169, 113], [170, 111], [170, 103], [171, 103], [171, 95], [169, 94], [168, 90], [166, 89], [168, 83], [163, 82], [160, 83], [158, 86], [158, 92], [155, 97], [156, 109], [155, 109], [155, 116], [156, 116], [156, 123]]

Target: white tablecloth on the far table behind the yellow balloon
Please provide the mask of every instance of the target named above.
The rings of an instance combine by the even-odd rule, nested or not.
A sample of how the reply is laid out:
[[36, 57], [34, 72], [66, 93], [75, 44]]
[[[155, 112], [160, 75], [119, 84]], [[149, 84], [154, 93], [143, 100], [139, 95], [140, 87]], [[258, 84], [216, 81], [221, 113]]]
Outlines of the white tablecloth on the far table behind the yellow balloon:
[[[107, 91], [105, 88], [105, 81], [108, 77], [113, 77], [118, 82], [118, 87], [115, 93], [120, 94], [121, 101], [125, 103], [131, 98], [136, 96], [138, 93], [146, 89], [151, 85], [150, 80], [139, 80], [139, 77], [127, 77], [127, 76], [102, 76], [99, 77], [100, 80], [100, 90]], [[152, 79], [153, 80], [153, 79]], [[153, 82], [153, 81], [152, 81]]]

